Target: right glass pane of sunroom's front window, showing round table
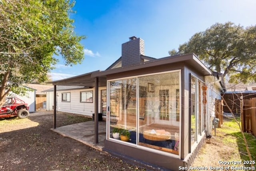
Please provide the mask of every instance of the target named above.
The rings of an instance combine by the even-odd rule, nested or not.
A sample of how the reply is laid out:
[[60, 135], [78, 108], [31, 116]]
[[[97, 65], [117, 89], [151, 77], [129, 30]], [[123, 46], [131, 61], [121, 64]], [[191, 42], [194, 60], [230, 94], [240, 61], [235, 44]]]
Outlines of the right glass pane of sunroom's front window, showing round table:
[[140, 119], [138, 125], [139, 145], [178, 155], [180, 73], [139, 77], [138, 84], [142, 87], [150, 85], [146, 94], [139, 93], [139, 101], [145, 101], [139, 103], [144, 105], [139, 109], [145, 108], [145, 119]]

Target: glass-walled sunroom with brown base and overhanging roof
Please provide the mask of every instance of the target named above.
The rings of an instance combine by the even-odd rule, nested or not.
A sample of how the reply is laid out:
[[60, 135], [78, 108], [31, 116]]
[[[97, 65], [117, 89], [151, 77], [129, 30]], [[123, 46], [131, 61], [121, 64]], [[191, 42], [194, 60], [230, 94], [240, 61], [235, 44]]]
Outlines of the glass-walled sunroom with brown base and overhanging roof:
[[209, 75], [194, 54], [92, 74], [107, 78], [103, 150], [170, 170], [190, 165], [208, 125]]

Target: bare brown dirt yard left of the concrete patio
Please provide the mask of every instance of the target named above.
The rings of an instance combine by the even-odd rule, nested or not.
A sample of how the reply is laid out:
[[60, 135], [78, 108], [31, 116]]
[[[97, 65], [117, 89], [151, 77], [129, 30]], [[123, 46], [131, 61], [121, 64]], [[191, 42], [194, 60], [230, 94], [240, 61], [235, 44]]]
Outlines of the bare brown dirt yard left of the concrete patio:
[[[1, 171], [144, 170], [51, 131], [52, 112], [31, 113], [28, 119], [0, 127]], [[57, 114], [57, 127], [69, 120]]]

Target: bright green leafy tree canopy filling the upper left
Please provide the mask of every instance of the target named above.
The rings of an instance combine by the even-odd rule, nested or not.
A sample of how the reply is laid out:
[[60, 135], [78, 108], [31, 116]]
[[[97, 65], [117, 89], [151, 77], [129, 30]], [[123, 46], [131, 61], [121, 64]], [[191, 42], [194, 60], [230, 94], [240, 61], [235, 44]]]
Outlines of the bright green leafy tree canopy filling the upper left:
[[[82, 63], [84, 36], [74, 33], [70, 0], [0, 0], [0, 106], [24, 83], [47, 80], [60, 54], [66, 65]], [[8, 84], [10, 83], [10, 84]]]

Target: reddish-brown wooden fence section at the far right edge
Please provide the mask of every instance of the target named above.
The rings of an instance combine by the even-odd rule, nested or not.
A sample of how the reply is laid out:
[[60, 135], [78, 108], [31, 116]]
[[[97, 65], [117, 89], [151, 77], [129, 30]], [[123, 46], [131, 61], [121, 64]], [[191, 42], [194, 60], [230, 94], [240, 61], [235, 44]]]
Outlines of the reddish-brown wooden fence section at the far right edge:
[[243, 102], [241, 112], [242, 131], [256, 136], [256, 98], [244, 99]]

